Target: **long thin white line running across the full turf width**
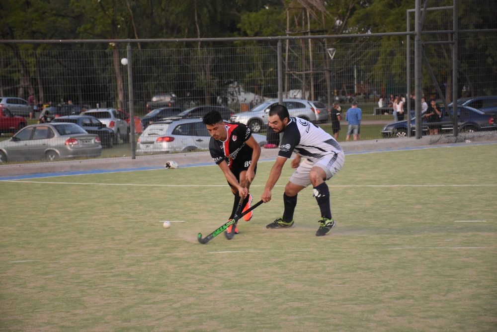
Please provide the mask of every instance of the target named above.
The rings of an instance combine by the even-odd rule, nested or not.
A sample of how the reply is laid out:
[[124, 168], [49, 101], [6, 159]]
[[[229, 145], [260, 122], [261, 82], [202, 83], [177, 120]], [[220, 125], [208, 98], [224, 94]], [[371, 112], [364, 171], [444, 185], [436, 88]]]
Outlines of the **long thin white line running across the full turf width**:
[[[144, 186], [144, 187], [225, 187], [226, 184], [140, 184], [140, 183], [96, 183], [96, 182], [53, 182], [53, 181], [27, 181], [27, 180], [3, 180], [0, 182], [19, 183], [44, 183], [44, 184], [75, 184], [75, 185], [117, 185], [117, 186]], [[264, 187], [265, 184], [254, 184], [252, 187]], [[497, 186], [497, 184], [331, 184], [332, 187], [484, 187]], [[275, 185], [284, 187], [284, 185]]]

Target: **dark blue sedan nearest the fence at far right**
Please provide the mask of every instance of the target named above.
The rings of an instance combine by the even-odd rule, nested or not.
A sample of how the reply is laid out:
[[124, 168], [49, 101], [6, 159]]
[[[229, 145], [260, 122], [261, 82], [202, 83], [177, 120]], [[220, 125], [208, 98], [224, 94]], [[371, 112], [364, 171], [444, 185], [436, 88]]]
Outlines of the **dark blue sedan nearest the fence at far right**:
[[[453, 121], [443, 108], [440, 109], [442, 112], [440, 118], [440, 134], [446, 134], [453, 131]], [[452, 109], [450, 109], [450, 115], [452, 115]], [[457, 126], [461, 133], [469, 133], [475, 131], [488, 131], [497, 130], [496, 115], [486, 114], [480, 110], [471, 107], [458, 107], [457, 109]], [[428, 134], [428, 124], [426, 119], [423, 118], [421, 124], [422, 135]], [[407, 136], [407, 120], [397, 121], [389, 123], [383, 127], [381, 133], [383, 137], [404, 137]], [[415, 117], [411, 118], [411, 135], [415, 134]]]

